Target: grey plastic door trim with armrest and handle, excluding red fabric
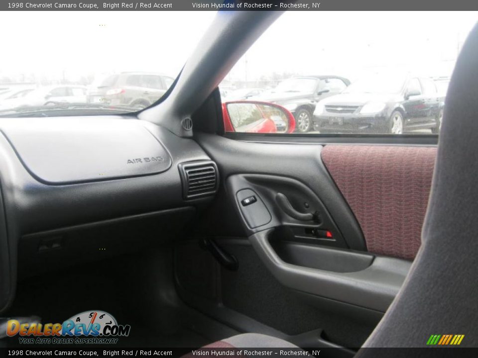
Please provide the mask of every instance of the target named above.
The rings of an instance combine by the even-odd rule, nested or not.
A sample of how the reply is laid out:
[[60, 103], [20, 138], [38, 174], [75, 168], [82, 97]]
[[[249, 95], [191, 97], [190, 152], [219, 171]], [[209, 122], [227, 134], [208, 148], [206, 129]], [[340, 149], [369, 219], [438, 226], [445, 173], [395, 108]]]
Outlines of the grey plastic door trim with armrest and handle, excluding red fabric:
[[[208, 134], [196, 139], [218, 164], [253, 249], [282, 285], [318, 299], [386, 311], [411, 262], [368, 252], [353, 211], [322, 162], [327, 147]], [[257, 201], [244, 205], [238, 200], [244, 189], [257, 194]], [[257, 202], [264, 203], [272, 219], [249, 225], [244, 210]]]

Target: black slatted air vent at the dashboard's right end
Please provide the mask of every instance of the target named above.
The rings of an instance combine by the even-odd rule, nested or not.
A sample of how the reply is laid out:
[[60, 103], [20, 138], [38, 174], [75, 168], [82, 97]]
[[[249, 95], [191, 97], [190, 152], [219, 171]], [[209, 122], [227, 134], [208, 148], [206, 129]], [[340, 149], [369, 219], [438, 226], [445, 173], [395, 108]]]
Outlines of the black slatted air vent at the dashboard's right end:
[[185, 199], [211, 195], [218, 189], [219, 174], [214, 162], [181, 163], [179, 173], [183, 182], [183, 196]]

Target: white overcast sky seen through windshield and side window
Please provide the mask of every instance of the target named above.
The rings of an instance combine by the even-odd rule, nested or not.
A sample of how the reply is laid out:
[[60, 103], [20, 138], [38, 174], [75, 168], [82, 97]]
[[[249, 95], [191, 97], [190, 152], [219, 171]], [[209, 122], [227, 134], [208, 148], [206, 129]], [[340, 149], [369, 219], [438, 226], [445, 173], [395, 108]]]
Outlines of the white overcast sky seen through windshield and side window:
[[[176, 76], [213, 11], [1, 12], [0, 75], [153, 71]], [[447, 76], [478, 20], [467, 12], [283, 14], [228, 76], [336, 74], [400, 67]]]

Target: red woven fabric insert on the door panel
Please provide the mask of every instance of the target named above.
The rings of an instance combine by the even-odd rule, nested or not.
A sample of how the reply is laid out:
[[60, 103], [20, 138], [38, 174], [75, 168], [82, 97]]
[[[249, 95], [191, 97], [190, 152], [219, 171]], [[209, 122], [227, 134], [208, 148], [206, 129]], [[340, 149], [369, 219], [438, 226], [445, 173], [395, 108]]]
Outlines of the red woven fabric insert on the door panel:
[[328, 145], [322, 160], [368, 251], [413, 260], [421, 245], [436, 148]]

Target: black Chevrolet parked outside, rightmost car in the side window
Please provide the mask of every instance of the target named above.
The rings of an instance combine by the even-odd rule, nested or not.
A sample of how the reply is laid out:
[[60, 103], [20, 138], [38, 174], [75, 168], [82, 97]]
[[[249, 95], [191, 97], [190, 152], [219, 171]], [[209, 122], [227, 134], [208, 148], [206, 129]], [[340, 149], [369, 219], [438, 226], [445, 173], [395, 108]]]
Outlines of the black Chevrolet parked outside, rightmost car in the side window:
[[402, 134], [421, 129], [438, 133], [442, 97], [429, 78], [371, 76], [322, 100], [313, 126], [321, 133]]

